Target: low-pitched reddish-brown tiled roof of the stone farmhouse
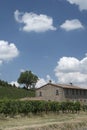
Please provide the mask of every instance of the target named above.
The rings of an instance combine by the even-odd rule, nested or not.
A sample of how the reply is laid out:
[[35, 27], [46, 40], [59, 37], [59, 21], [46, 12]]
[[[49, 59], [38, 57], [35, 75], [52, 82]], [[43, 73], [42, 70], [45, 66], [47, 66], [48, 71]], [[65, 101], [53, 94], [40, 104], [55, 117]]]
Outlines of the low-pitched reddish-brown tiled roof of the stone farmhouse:
[[[40, 88], [43, 88], [43, 87], [45, 87], [45, 86], [47, 86], [47, 85], [52, 85], [52, 86], [54, 86], [54, 87], [60, 87], [60, 88], [65, 88], [65, 89], [70, 88], [70, 89], [83, 89], [83, 90], [87, 90], [86, 88], [80, 88], [80, 87], [78, 87], [78, 86], [74, 86], [73, 84], [67, 85], [67, 84], [53, 84], [53, 83], [47, 83], [47, 84], [43, 85], [43, 86], [40, 87]], [[40, 88], [37, 88], [37, 89], [40, 89]]]

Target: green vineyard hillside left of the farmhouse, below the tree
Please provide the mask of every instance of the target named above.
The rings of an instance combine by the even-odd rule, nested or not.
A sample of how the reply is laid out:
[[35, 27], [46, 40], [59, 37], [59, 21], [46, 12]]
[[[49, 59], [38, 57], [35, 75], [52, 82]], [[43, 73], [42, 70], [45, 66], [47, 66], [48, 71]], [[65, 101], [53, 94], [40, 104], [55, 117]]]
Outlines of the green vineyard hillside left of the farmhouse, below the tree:
[[9, 99], [19, 99], [24, 97], [34, 97], [34, 90], [26, 90], [23, 88], [16, 88], [9, 85], [0, 85], [0, 99], [9, 98]]

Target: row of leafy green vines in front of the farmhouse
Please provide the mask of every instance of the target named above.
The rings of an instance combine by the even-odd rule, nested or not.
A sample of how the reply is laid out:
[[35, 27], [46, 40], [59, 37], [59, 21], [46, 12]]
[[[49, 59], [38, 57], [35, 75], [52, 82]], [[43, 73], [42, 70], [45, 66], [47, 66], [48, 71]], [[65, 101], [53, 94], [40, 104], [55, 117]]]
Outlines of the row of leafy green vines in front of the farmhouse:
[[[20, 100], [1, 100], [0, 113], [7, 115], [16, 115], [29, 113], [48, 113], [48, 112], [78, 112], [81, 110], [79, 102], [55, 102], [55, 101], [20, 101]], [[87, 107], [85, 107], [87, 109]]]

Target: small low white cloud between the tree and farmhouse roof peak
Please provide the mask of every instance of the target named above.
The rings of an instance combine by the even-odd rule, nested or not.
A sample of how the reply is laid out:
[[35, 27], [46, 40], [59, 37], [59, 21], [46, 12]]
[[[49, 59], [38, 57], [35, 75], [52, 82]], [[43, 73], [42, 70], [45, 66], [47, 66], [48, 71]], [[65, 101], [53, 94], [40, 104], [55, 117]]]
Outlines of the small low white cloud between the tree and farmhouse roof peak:
[[49, 80], [51, 80], [52, 83], [55, 83], [55, 81], [54, 81], [53, 79], [51, 79], [51, 77], [50, 77], [49, 75], [47, 75], [47, 76], [46, 76], [46, 79], [44, 79], [44, 78], [39, 78], [39, 80], [38, 80], [38, 82], [37, 82], [37, 84], [36, 84], [35, 87], [36, 87], [36, 88], [39, 88], [39, 87], [41, 87], [41, 86], [47, 84], [47, 83], [49, 82]]

